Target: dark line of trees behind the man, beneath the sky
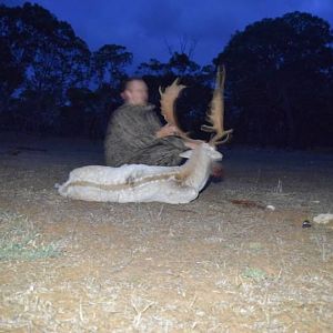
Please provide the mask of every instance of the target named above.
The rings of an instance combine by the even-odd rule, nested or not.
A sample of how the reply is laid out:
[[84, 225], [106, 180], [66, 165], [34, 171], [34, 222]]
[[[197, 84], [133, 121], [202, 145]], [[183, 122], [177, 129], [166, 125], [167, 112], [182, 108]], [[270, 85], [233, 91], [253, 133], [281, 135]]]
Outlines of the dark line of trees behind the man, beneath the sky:
[[[104, 44], [91, 51], [68, 22], [38, 4], [0, 6], [0, 129], [103, 138], [121, 104], [133, 53]], [[211, 99], [216, 65], [226, 68], [225, 124], [233, 142], [263, 147], [333, 147], [333, 33], [323, 19], [291, 12], [236, 31], [212, 62], [170, 52], [138, 65], [159, 105], [159, 87], [175, 77], [189, 89], [178, 100], [192, 137]]]

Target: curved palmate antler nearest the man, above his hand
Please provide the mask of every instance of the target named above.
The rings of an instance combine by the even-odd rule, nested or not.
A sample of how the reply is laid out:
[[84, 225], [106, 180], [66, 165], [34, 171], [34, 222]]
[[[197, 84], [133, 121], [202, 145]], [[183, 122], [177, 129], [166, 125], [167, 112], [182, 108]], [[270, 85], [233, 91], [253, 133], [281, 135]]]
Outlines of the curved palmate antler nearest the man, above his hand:
[[174, 102], [184, 88], [186, 88], [186, 85], [179, 84], [178, 78], [172, 82], [171, 85], [165, 88], [164, 92], [162, 91], [161, 87], [159, 89], [161, 94], [160, 102], [162, 115], [169, 124], [176, 127], [176, 130], [181, 137], [185, 137], [185, 133], [180, 129], [179, 122], [175, 118]]

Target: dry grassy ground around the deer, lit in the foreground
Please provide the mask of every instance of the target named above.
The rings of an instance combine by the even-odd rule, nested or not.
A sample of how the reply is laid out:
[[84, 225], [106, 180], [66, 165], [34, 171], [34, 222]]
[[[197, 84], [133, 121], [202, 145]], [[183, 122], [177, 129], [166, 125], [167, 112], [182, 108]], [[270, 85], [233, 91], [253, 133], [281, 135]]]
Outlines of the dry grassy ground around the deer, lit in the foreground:
[[195, 201], [119, 204], [54, 188], [100, 142], [0, 139], [0, 332], [332, 332], [332, 153], [224, 148]]

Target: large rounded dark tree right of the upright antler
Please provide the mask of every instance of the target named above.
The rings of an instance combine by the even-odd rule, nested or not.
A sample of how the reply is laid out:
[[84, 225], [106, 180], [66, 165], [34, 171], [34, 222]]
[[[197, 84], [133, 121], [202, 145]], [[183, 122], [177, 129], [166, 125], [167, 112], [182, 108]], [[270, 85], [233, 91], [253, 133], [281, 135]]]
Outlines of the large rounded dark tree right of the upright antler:
[[232, 37], [214, 62], [226, 65], [233, 125], [242, 141], [332, 144], [333, 109], [324, 102], [332, 85], [332, 40], [327, 22], [301, 12], [264, 19]]

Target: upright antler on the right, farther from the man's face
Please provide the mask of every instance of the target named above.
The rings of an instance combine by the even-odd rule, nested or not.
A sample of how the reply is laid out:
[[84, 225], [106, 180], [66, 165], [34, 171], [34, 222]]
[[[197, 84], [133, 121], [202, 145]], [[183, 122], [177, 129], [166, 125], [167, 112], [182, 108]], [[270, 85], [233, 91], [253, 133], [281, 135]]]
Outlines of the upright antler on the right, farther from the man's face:
[[[215, 132], [216, 134], [210, 140], [210, 144], [218, 145], [224, 143], [229, 140], [230, 134], [233, 130], [224, 130], [224, 80], [225, 80], [225, 69], [224, 65], [218, 68], [215, 90], [213, 92], [213, 98], [210, 105], [210, 111], [208, 112], [208, 121], [212, 125], [202, 125], [201, 130], [204, 132]], [[220, 139], [223, 140], [219, 141]]]

